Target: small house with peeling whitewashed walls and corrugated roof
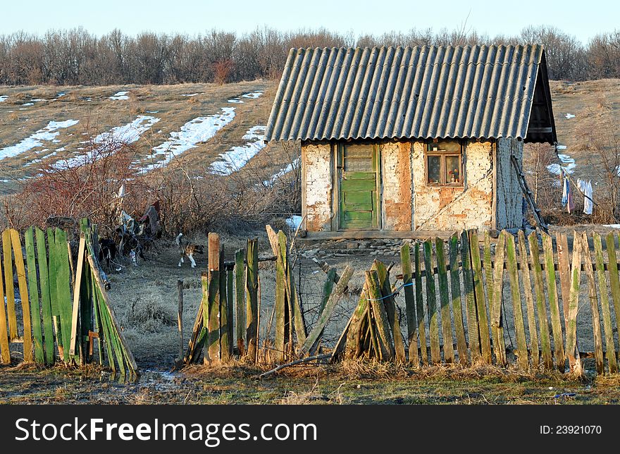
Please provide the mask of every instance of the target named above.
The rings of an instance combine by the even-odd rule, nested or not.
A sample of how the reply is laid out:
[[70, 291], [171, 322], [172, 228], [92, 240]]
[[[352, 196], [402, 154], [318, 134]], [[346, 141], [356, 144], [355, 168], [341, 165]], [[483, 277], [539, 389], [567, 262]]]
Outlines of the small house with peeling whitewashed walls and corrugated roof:
[[557, 142], [545, 50], [291, 49], [266, 140], [301, 140], [309, 236], [521, 227], [523, 142]]

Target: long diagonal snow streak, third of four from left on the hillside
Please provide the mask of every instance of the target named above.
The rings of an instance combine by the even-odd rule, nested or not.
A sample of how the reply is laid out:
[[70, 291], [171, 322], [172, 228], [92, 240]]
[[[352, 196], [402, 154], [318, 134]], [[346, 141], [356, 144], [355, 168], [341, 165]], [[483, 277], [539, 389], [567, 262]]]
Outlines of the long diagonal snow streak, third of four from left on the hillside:
[[[234, 107], [223, 107], [221, 113], [201, 116], [188, 121], [182, 125], [180, 130], [170, 133], [166, 142], [154, 147], [151, 152], [152, 164], [144, 166], [141, 173], [148, 172], [157, 167], [168, 165], [175, 157], [187, 152], [188, 149], [196, 147], [201, 142], [211, 139], [218, 130], [228, 125], [235, 118]], [[155, 161], [156, 158], [163, 159]]]

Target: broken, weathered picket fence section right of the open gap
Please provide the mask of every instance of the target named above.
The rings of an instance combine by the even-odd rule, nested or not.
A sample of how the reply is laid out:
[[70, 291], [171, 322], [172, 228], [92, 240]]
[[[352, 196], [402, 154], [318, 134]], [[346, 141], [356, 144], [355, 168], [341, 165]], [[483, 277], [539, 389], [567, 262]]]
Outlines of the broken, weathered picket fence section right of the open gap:
[[[267, 230], [274, 257], [259, 259], [257, 240], [249, 240], [247, 249], [237, 251], [231, 262], [223, 257], [218, 235], [209, 235], [209, 271], [203, 274], [202, 304], [186, 364], [198, 362], [204, 350], [207, 364], [235, 355], [268, 364], [368, 358], [413, 367], [496, 364], [581, 374], [583, 359], [591, 357], [598, 374], [618, 372], [620, 280], [614, 233], [604, 241], [597, 233], [574, 233], [572, 250], [562, 233], [553, 240], [543, 232], [526, 238], [519, 231], [515, 238], [502, 231], [492, 239], [488, 232], [480, 238], [478, 231], [470, 230], [454, 233], [447, 241], [406, 240], [402, 274], [390, 280], [390, 267], [375, 260], [339, 340], [328, 354], [317, 355], [352, 269], [346, 266], [339, 275], [320, 264], [327, 278], [321, 314], [310, 329], [285, 235], [269, 226]], [[267, 321], [259, 319], [259, 260], [275, 261], [275, 301]], [[587, 290], [587, 302], [580, 289]], [[583, 332], [583, 321], [582, 331], [577, 329], [584, 312], [580, 303], [591, 314], [591, 322], [586, 322], [591, 323], [591, 337]], [[267, 333], [272, 323], [275, 328], [273, 341], [264, 339], [263, 348], [261, 323], [268, 324]], [[580, 340], [593, 343], [593, 351], [580, 351]]]

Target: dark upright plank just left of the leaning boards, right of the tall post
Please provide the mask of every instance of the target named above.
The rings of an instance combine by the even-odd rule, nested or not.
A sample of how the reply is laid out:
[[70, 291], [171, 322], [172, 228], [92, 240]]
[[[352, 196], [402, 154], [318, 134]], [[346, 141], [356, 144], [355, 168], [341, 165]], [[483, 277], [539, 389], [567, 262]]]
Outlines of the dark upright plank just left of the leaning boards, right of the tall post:
[[246, 356], [254, 362], [258, 352], [259, 335], [259, 240], [247, 242], [246, 290]]

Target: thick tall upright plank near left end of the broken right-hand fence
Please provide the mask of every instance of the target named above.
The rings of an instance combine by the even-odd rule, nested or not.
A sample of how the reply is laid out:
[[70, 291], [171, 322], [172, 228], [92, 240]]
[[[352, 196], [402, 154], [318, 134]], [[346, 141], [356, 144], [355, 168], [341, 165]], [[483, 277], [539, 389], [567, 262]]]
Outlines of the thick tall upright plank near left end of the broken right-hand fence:
[[209, 350], [209, 364], [221, 360], [220, 356], [220, 236], [209, 233], [209, 334], [207, 350]]

